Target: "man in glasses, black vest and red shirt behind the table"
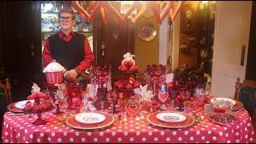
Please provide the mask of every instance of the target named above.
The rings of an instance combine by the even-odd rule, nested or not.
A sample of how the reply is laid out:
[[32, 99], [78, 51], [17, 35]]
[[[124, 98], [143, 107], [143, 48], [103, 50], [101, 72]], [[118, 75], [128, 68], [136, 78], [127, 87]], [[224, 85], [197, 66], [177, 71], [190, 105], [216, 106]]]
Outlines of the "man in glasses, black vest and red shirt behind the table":
[[46, 67], [55, 60], [66, 68], [65, 78], [76, 80], [78, 74], [82, 74], [94, 63], [94, 54], [90, 50], [90, 44], [82, 34], [74, 33], [74, 13], [70, 9], [62, 9], [58, 14], [60, 30], [57, 34], [46, 39], [43, 50], [43, 66]]

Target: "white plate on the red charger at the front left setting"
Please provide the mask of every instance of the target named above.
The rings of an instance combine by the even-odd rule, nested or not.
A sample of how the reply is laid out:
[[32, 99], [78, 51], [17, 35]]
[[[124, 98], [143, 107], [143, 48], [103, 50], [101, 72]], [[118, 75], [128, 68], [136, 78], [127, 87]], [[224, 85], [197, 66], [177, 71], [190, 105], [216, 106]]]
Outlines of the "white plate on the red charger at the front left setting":
[[105, 121], [106, 117], [103, 114], [91, 112], [78, 114], [74, 119], [81, 123], [94, 124]]

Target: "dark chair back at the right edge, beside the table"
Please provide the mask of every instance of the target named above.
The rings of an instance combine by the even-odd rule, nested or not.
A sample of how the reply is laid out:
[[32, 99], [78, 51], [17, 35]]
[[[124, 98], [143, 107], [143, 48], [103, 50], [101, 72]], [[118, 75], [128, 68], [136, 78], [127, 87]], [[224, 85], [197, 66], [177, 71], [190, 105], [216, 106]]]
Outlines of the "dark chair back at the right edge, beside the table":
[[234, 99], [242, 102], [250, 116], [254, 116], [254, 110], [256, 108], [256, 81], [244, 80], [240, 82], [240, 78], [235, 84]]

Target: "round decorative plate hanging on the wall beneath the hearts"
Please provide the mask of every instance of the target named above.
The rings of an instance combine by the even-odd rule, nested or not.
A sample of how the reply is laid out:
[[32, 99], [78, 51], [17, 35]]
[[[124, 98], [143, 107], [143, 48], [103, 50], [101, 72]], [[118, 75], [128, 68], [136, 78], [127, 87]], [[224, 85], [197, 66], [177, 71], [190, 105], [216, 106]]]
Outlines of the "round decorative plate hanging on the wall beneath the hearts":
[[155, 26], [151, 23], [144, 23], [138, 28], [138, 38], [143, 41], [150, 42], [157, 35]]

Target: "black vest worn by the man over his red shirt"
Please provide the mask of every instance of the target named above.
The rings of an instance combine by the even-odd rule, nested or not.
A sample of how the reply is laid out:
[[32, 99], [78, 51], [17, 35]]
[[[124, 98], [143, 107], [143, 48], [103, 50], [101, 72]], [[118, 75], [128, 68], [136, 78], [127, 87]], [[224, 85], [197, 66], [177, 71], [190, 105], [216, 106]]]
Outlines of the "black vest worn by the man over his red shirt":
[[66, 68], [74, 69], [80, 64], [84, 55], [85, 36], [74, 33], [74, 37], [69, 42], [58, 37], [58, 33], [50, 36], [49, 48], [52, 58]]

